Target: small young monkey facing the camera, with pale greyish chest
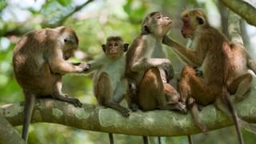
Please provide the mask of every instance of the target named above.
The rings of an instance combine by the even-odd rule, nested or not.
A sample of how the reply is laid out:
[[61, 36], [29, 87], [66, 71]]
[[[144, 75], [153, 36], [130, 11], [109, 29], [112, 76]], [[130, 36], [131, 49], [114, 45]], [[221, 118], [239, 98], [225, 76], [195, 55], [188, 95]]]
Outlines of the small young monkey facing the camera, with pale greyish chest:
[[[109, 37], [106, 44], [102, 45], [105, 54], [88, 62], [90, 71], [94, 74], [94, 94], [98, 104], [118, 110], [123, 116], [128, 117], [129, 110], [120, 106], [119, 102], [126, 96], [128, 82], [125, 78], [126, 57], [128, 43], [123, 43], [121, 37]], [[114, 143], [113, 134], [109, 133], [110, 143]]]

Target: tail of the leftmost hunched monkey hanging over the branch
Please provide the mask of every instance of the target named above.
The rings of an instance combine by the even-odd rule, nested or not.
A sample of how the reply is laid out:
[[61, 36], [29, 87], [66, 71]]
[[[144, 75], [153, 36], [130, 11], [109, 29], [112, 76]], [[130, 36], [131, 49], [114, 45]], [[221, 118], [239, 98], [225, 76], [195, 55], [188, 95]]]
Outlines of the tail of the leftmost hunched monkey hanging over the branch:
[[26, 94], [26, 101], [25, 101], [25, 115], [23, 121], [23, 128], [22, 128], [22, 138], [27, 141], [28, 138], [28, 130], [30, 126], [30, 121], [32, 117], [32, 113], [34, 110], [34, 103], [35, 103], [35, 96], [34, 94]]

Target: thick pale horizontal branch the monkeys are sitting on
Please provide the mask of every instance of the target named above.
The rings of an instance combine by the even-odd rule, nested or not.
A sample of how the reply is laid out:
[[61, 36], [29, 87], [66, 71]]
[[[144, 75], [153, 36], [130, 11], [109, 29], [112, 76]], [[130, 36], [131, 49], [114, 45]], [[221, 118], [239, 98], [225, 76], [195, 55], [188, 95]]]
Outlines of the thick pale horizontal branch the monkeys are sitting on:
[[[235, 104], [239, 117], [256, 123], [255, 103], [256, 78], [248, 98]], [[13, 126], [22, 125], [23, 103], [1, 106], [0, 114], [4, 114]], [[209, 130], [233, 125], [233, 122], [213, 105], [204, 107], [199, 118]], [[76, 108], [69, 103], [53, 99], [38, 100], [32, 122], [52, 122], [84, 130], [132, 135], [178, 136], [200, 133], [190, 113], [180, 114], [167, 110], [138, 111], [131, 112], [129, 118], [124, 118], [117, 111], [102, 106], [83, 105], [82, 108]]]

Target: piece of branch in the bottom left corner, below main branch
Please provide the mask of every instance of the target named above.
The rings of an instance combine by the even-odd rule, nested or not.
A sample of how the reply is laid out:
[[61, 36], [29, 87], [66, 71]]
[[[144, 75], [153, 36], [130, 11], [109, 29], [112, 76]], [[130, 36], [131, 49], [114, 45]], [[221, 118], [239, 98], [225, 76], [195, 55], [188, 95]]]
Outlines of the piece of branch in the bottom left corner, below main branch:
[[14, 130], [13, 126], [0, 114], [0, 143], [25, 144], [22, 137]]

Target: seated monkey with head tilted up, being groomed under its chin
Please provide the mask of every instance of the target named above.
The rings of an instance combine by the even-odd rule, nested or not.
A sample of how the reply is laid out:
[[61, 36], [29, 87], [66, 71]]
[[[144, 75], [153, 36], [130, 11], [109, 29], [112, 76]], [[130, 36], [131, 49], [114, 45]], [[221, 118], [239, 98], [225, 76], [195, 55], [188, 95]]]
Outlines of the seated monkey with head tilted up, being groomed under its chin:
[[162, 48], [162, 38], [171, 26], [169, 17], [159, 12], [148, 14], [142, 22], [141, 34], [126, 54], [126, 77], [138, 89], [132, 101], [141, 110], [186, 112], [186, 107], [178, 102], [177, 90], [168, 83], [174, 70]]

